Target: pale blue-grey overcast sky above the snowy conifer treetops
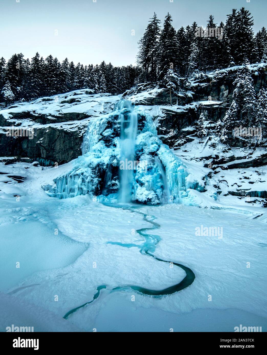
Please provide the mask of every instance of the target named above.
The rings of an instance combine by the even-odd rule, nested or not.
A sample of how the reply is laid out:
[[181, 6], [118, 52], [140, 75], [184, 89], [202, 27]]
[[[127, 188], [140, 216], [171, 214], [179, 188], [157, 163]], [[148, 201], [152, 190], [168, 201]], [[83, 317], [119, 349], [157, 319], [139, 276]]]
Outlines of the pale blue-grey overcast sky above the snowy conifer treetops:
[[178, 29], [193, 21], [205, 26], [210, 14], [225, 22], [242, 6], [253, 15], [254, 31], [267, 27], [267, 0], [0, 0], [0, 57], [22, 52], [31, 58], [38, 51], [75, 64], [135, 64], [154, 11], [161, 21], [169, 11]]

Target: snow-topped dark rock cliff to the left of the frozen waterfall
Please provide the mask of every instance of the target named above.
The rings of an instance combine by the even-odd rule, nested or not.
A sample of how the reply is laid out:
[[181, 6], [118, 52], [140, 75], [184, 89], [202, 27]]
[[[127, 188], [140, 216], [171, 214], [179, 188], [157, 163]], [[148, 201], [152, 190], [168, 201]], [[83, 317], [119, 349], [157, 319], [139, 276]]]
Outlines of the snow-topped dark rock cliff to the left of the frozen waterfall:
[[[67, 163], [82, 154], [83, 134], [92, 117], [114, 109], [120, 96], [92, 95], [88, 89], [11, 105], [0, 110], [0, 156], [31, 158], [40, 164]], [[12, 132], [31, 130], [32, 137]]]

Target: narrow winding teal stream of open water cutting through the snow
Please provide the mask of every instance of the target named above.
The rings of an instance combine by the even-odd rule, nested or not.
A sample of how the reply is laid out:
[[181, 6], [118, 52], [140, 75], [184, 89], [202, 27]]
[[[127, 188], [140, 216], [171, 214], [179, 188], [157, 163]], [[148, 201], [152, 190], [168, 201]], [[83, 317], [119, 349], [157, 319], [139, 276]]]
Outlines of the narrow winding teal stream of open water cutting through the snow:
[[[126, 248], [138, 247], [138, 248], [140, 248], [140, 253], [141, 254], [144, 254], [144, 255], [147, 255], [147, 256], [151, 256], [151, 257], [153, 257], [156, 260], [161, 261], [161, 262], [173, 263], [173, 265], [176, 265], [176, 266], [182, 268], [185, 271], [186, 276], [178, 284], [175, 284], [175, 285], [170, 286], [170, 287], [168, 287], [166, 289], [163, 289], [163, 290], [151, 290], [151, 289], [143, 288], [141, 286], [126, 285], [126, 286], [115, 287], [115, 288], [111, 289], [111, 292], [132, 289], [132, 290], [137, 291], [138, 293], [141, 293], [141, 294], [144, 294], [144, 295], [150, 295], [152, 297], [159, 297], [159, 296], [164, 296], [164, 295], [171, 295], [171, 294], [173, 294], [175, 292], [181, 291], [181, 290], [185, 289], [186, 287], [188, 287], [189, 285], [191, 285], [193, 283], [193, 281], [195, 279], [195, 274], [193, 273], [193, 271], [191, 269], [189, 269], [188, 267], [186, 267], [186, 266], [184, 266], [182, 264], [178, 264], [178, 263], [174, 263], [174, 262], [171, 262], [171, 261], [167, 261], [167, 260], [163, 260], [163, 259], [157, 258], [153, 254], [151, 254], [150, 251], [154, 251], [156, 245], [161, 240], [161, 238], [158, 235], [153, 235], [153, 234], [147, 234], [146, 233], [147, 230], [157, 229], [157, 228], [160, 227], [160, 224], [158, 224], [158, 223], [153, 221], [153, 219], [156, 218], [155, 216], [148, 215], [148, 214], [136, 211], [136, 209], [140, 207], [138, 205], [132, 205], [131, 204], [131, 205], [126, 205], [126, 206], [122, 206], [122, 205], [114, 206], [112, 204], [112, 206], [113, 207], [117, 207], [117, 208], [123, 208], [123, 209], [126, 209], [126, 210], [131, 211], [131, 212], [137, 212], [139, 214], [142, 214], [143, 215], [143, 219], [146, 222], [151, 223], [152, 226], [136, 230], [138, 234], [140, 234], [142, 237], [145, 237], [145, 239], [146, 239], [145, 242], [141, 245], [141, 248], [140, 248], [140, 245], [137, 245], [137, 244], [123, 244], [123, 243], [120, 243], [120, 242], [107, 242], [108, 244], [120, 245], [120, 246], [123, 246], [123, 247], [126, 247]], [[148, 219], [150, 217], [151, 217], [152, 220]], [[63, 318], [67, 319], [72, 313], [77, 311], [79, 308], [82, 308], [82, 307], [92, 303], [95, 299], [97, 299], [99, 297], [100, 290], [101, 289], [106, 289], [106, 288], [107, 288], [106, 285], [98, 286], [97, 287], [97, 292], [94, 295], [92, 301], [86, 302], [85, 304], [83, 304], [83, 305], [81, 305], [79, 307], [73, 308], [72, 310], [67, 312], [64, 315]]]

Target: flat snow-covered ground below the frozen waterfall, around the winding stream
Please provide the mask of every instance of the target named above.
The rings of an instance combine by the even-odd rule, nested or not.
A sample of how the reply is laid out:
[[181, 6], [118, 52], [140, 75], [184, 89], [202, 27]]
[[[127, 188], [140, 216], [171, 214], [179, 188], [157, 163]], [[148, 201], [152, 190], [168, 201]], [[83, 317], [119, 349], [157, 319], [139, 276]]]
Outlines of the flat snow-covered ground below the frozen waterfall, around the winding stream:
[[[1, 331], [11, 324], [35, 331], [167, 332], [232, 332], [242, 324], [266, 331], [266, 223], [251, 219], [251, 205], [125, 209], [88, 195], [48, 197], [41, 185], [67, 171], [66, 165], [0, 165], [1, 181], [9, 179], [0, 182], [0, 250], [5, 256], [12, 250], [12, 258], [0, 258]], [[182, 291], [161, 297], [111, 291], [126, 285], [160, 290], [185, 276], [181, 268], [140, 253], [145, 238], [137, 230], [152, 228], [144, 215], [159, 224], [147, 230], [160, 237], [153, 255], [194, 272], [194, 282]], [[198, 235], [201, 225], [222, 233]], [[63, 319], [92, 301], [100, 285], [106, 289], [97, 299]]]

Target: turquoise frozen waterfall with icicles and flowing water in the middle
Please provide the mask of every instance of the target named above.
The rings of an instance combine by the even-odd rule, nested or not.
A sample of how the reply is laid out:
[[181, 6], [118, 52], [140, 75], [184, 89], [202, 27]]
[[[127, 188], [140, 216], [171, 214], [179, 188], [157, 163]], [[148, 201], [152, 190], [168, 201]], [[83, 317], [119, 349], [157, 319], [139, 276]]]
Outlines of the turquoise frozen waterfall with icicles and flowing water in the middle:
[[184, 164], [159, 139], [147, 111], [130, 101], [88, 122], [82, 154], [71, 171], [44, 186], [49, 196], [147, 204], [182, 203], [188, 196]]

